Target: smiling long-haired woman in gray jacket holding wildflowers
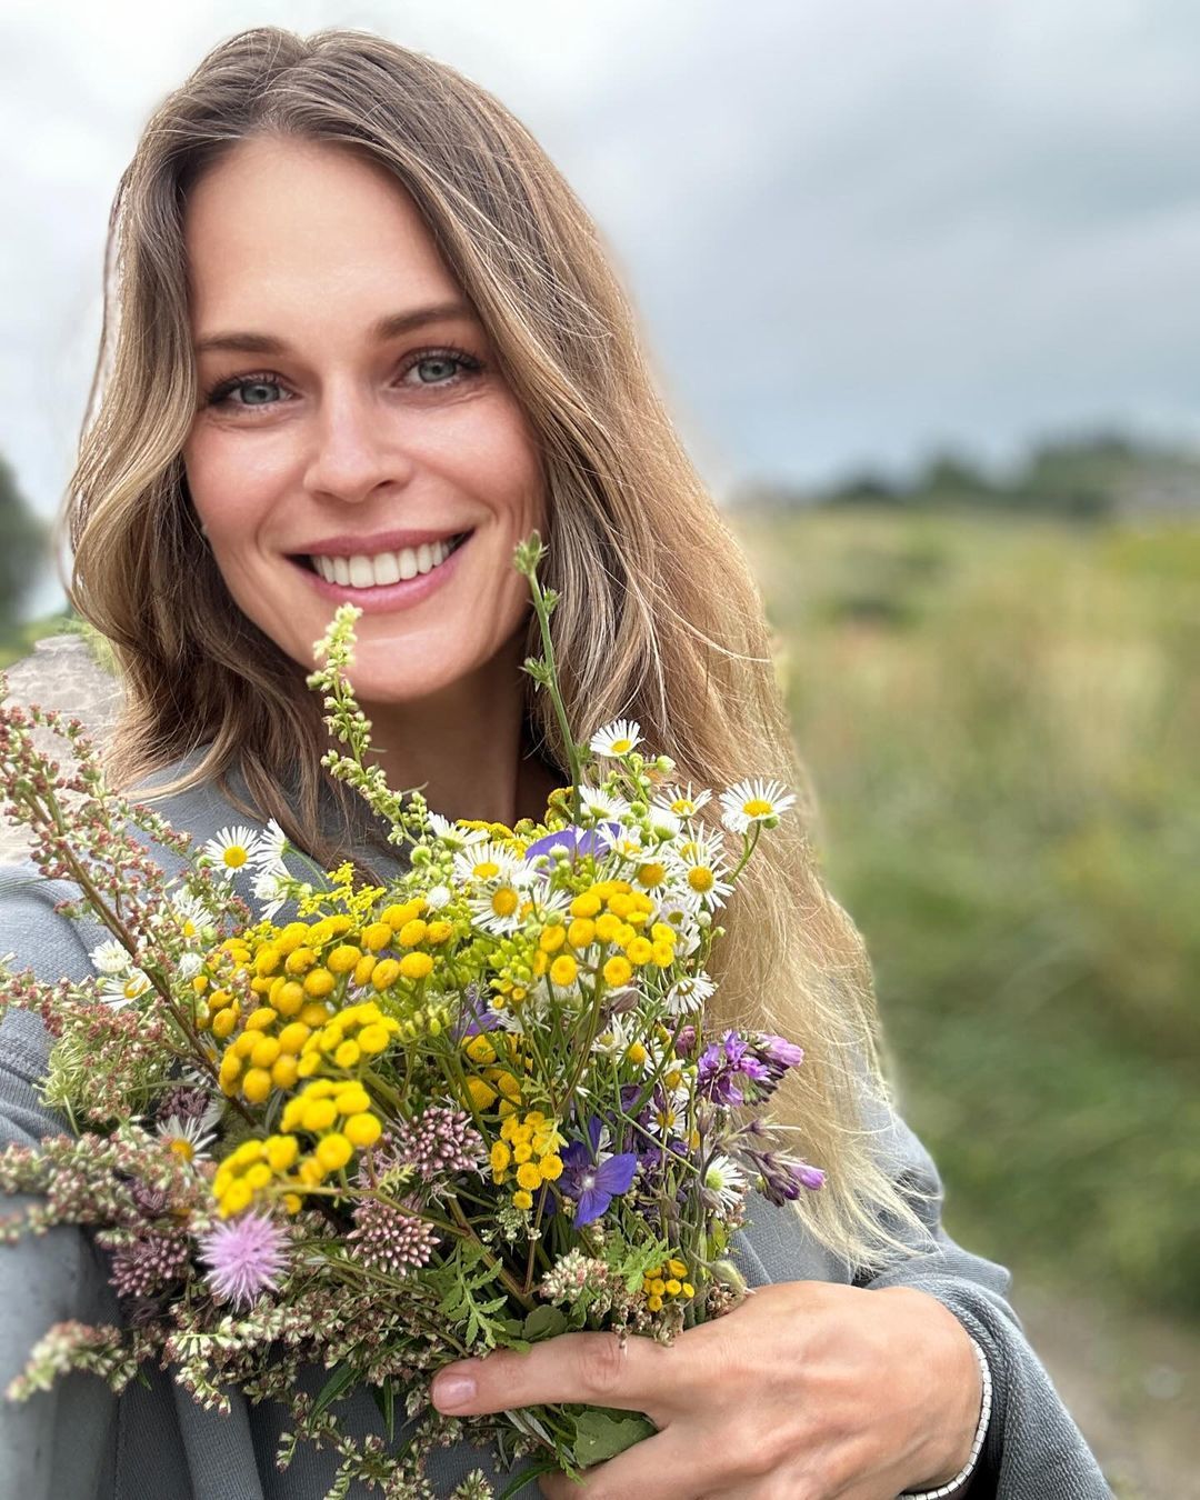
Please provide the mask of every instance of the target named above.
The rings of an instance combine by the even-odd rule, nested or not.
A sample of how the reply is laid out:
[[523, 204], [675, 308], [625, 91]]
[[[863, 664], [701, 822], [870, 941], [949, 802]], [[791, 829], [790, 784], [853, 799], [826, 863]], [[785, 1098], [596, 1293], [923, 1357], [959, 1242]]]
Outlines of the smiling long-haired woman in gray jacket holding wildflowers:
[[[424, 786], [447, 816], [540, 816], [567, 760], [520, 670], [534, 621], [512, 555], [534, 528], [578, 734], [628, 714], [681, 782], [753, 766], [801, 784], [747, 562], [654, 393], [596, 226], [490, 94], [368, 33], [244, 32], [152, 118], [112, 234], [120, 321], [110, 357], [105, 318], [64, 518], [70, 597], [126, 682], [116, 784], [150, 784], [196, 840], [234, 808], [327, 867], [350, 850], [386, 868], [382, 831], [322, 774], [304, 686], [350, 598], [388, 783]], [[10, 882], [0, 909], [0, 948], [42, 976], [86, 954], [51, 894]], [[723, 921], [722, 1018], [802, 1038], [786, 1107], [825, 1190], [795, 1212], [756, 1200], [758, 1290], [729, 1317], [670, 1348], [574, 1334], [464, 1362], [435, 1383], [440, 1408], [592, 1401], [662, 1428], [582, 1486], [543, 1479], [548, 1496], [1107, 1494], [1008, 1274], [940, 1227], [936, 1167], [888, 1106], [861, 939], [802, 825], [764, 843]], [[30, 1092], [34, 1028], [3, 1030], [10, 1138], [57, 1124]], [[84, 1316], [102, 1270], [62, 1244], [58, 1269], [30, 1262], [28, 1278], [58, 1275], [51, 1300]], [[4, 1347], [26, 1347], [45, 1306], [33, 1326], [21, 1298], [0, 1302]], [[63, 1450], [57, 1472], [46, 1456], [66, 1414], [4, 1413], [22, 1496], [110, 1492], [114, 1476], [118, 1494], [324, 1492], [318, 1461], [274, 1473], [266, 1404], [214, 1418], [156, 1374], [114, 1414], [86, 1384], [74, 1490]], [[453, 1449], [430, 1492], [477, 1462]]]

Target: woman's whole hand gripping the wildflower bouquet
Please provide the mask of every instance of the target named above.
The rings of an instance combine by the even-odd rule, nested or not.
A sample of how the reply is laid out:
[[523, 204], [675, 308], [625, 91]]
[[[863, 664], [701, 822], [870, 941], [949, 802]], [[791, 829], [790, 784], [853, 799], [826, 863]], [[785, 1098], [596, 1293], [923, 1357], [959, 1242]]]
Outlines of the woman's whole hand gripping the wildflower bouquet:
[[[452, 1401], [456, 1377], [474, 1394]], [[454, 1414], [582, 1401], [658, 1428], [582, 1484], [542, 1479], [552, 1500], [894, 1500], [966, 1464], [981, 1400], [966, 1329], [934, 1296], [826, 1281], [758, 1287], [670, 1346], [561, 1334], [434, 1382]]]

